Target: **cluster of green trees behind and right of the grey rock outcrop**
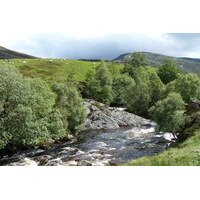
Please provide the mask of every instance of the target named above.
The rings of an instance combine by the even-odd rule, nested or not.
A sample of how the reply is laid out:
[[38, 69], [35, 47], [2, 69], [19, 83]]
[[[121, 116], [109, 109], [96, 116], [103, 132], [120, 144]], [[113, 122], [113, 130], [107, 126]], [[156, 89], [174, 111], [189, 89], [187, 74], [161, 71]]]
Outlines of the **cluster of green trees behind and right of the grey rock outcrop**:
[[161, 131], [176, 133], [185, 123], [185, 104], [200, 99], [200, 77], [183, 74], [166, 59], [155, 71], [145, 54], [135, 52], [115, 71], [102, 62], [87, 74], [87, 96], [108, 105], [125, 106], [129, 112], [153, 118]]

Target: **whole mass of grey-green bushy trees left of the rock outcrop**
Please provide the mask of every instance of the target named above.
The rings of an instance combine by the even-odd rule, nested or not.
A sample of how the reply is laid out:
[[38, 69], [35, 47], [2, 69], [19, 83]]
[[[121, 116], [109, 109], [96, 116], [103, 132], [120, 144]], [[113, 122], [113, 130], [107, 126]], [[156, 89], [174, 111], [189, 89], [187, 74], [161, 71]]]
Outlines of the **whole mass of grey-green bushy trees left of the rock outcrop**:
[[73, 83], [51, 89], [14, 67], [0, 71], [0, 149], [38, 147], [80, 130], [85, 110]]

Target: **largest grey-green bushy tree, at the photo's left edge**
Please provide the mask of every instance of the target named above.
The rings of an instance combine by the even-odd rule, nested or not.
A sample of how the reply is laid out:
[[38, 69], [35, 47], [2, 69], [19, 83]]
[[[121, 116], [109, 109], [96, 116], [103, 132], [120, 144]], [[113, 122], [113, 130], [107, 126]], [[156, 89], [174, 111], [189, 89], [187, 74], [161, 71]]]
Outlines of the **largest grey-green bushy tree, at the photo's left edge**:
[[54, 94], [40, 79], [23, 78], [13, 67], [0, 66], [0, 148], [37, 147], [66, 137], [60, 113], [55, 136], [51, 118]]

